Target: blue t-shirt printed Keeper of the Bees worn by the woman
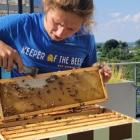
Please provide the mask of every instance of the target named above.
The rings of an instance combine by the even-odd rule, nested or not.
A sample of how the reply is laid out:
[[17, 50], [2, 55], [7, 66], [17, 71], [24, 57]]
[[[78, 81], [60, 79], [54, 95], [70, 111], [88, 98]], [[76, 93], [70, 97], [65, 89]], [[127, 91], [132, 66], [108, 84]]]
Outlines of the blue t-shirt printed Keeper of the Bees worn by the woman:
[[[13, 14], [0, 18], [0, 40], [16, 49], [25, 66], [39, 73], [88, 67], [96, 62], [94, 36], [81, 30], [71, 37], [52, 40], [44, 28], [43, 13]], [[21, 76], [12, 70], [12, 77]]]

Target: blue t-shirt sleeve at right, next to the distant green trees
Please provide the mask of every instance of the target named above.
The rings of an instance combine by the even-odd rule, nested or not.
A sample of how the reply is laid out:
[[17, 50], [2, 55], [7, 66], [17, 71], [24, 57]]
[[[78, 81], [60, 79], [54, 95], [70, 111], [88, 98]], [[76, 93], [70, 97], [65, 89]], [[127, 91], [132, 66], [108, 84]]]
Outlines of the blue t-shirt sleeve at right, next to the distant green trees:
[[89, 36], [88, 55], [83, 61], [82, 67], [92, 66], [97, 62], [96, 45], [94, 35]]

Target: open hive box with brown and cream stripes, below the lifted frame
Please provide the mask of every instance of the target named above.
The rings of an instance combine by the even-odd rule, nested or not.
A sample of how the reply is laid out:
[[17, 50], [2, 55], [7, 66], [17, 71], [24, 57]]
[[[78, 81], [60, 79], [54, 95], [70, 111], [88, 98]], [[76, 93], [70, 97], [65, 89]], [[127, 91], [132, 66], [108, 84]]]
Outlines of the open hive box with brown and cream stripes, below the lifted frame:
[[1, 140], [139, 140], [139, 130], [138, 121], [94, 105], [92, 109], [87, 107], [86, 111], [50, 115], [44, 120], [32, 123], [31, 120], [9, 122], [0, 129], [0, 138]]

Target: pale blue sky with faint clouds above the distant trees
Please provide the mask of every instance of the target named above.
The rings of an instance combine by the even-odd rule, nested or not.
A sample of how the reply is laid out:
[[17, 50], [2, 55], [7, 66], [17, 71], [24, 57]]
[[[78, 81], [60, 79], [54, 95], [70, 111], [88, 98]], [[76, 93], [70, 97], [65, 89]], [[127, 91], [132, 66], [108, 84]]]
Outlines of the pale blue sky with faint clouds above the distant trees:
[[140, 0], [93, 0], [96, 42], [140, 39]]

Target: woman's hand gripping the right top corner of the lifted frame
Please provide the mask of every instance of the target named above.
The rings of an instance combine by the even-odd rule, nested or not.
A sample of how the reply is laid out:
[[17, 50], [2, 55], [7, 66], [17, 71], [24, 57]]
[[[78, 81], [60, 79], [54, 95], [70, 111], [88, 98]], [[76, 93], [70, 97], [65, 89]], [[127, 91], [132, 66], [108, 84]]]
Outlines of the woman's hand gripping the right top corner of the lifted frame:
[[103, 78], [103, 82], [108, 82], [112, 75], [111, 68], [107, 64], [100, 64], [99, 69]]

